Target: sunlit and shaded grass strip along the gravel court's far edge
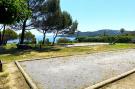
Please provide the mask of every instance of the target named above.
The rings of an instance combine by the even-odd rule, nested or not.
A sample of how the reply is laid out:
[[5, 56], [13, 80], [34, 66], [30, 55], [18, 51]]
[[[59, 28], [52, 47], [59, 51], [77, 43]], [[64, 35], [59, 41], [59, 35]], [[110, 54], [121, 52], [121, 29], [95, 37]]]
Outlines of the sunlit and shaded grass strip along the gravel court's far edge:
[[8, 44], [0, 50], [0, 59], [5, 62], [24, 59], [48, 58], [57, 56], [68, 56], [76, 54], [94, 53], [101, 51], [135, 48], [135, 44], [116, 44], [84, 47], [44, 47], [43, 49], [18, 50], [14, 44]]

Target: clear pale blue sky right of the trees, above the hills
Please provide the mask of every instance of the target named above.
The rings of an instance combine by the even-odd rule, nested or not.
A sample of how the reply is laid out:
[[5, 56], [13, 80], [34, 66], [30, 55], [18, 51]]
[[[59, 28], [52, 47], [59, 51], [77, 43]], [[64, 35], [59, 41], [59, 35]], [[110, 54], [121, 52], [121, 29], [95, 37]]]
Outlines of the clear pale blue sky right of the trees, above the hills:
[[135, 0], [61, 0], [60, 4], [79, 22], [80, 31], [135, 30]]

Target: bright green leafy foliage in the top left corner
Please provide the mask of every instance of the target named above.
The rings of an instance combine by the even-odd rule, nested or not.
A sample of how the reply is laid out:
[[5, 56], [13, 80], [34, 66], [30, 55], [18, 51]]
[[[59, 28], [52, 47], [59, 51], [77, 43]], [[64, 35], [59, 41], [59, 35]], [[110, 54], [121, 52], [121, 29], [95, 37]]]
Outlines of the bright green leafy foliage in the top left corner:
[[0, 1], [0, 23], [12, 24], [19, 21], [20, 15], [27, 12], [26, 0], [1, 0]]

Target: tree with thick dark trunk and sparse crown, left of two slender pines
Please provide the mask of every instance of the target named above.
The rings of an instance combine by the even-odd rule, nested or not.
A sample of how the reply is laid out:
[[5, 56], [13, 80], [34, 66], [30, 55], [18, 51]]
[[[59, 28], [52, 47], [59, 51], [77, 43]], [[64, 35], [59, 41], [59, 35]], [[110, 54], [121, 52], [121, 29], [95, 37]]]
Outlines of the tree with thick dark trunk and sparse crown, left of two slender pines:
[[[26, 30], [30, 30], [33, 28], [33, 18], [41, 15], [40, 6], [46, 4], [46, 0], [25, 0], [27, 7], [25, 13], [20, 15], [21, 21], [14, 25], [15, 29], [21, 29], [21, 37], [20, 37], [20, 44], [24, 43], [24, 35]], [[22, 7], [24, 8], [24, 7]]]

